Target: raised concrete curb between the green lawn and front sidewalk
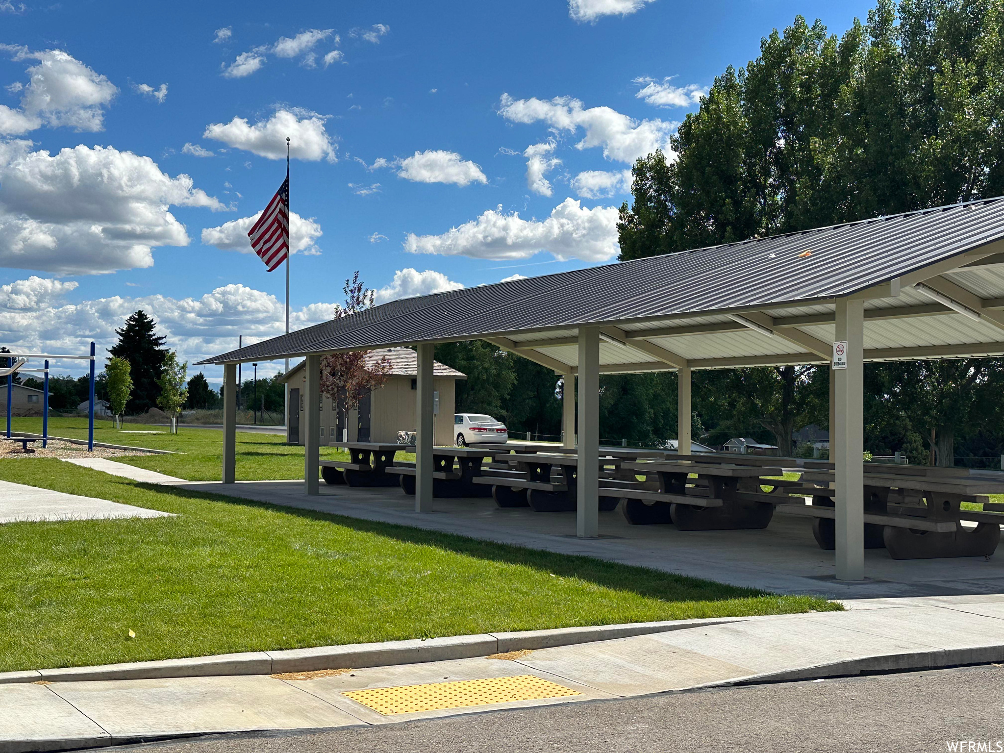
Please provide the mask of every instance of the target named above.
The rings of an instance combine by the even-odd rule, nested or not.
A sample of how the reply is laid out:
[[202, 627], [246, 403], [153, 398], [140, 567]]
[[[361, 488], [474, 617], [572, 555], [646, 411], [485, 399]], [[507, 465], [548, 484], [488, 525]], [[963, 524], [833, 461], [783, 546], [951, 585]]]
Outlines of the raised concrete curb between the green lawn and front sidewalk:
[[313, 649], [222, 654], [215, 657], [165, 659], [158, 662], [129, 662], [97, 667], [69, 667], [0, 673], [0, 684], [83, 682], [88, 680], [154, 680], [182, 677], [232, 675], [273, 675], [284, 672], [391, 667], [402, 664], [474, 659], [510, 651], [548, 649], [555, 646], [612, 641], [691, 628], [707, 628], [725, 622], [741, 622], [749, 617], [715, 619], [675, 619], [660, 622], [558, 628], [521, 633], [486, 633], [479, 636], [431, 638], [425, 641], [388, 641], [381, 644], [347, 644]]

